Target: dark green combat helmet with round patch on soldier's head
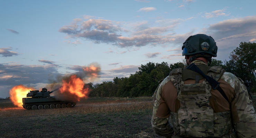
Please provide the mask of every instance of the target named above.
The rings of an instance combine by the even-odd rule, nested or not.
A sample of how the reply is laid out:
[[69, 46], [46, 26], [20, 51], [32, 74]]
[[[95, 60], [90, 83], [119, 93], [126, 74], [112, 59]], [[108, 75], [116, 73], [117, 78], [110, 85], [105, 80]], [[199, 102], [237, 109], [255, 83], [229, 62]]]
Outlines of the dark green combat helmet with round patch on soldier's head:
[[216, 57], [218, 47], [211, 36], [196, 34], [186, 39], [183, 43], [182, 50], [182, 56], [204, 53]]

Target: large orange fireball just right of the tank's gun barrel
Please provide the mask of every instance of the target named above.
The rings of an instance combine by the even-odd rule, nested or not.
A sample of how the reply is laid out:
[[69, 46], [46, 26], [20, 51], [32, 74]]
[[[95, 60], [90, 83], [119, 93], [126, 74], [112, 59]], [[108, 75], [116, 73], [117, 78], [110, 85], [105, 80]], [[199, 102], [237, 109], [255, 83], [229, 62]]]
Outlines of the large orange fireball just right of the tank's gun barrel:
[[67, 80], [62, 80], [62, 83], [61, 93], [77, 96], [78, 101], [81, 98], [88, 98], [89, 88], [85, 88], [84, 82], [76, 75], [71, 75]]

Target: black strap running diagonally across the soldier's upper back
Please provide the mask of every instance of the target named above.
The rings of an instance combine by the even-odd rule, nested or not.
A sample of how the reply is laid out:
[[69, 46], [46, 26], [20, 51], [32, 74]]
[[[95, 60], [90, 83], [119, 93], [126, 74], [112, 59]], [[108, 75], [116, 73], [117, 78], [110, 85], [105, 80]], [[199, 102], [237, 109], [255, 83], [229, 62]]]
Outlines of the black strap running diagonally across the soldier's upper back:
[[202, 75], [209, 83], [210, 85], [212, 86], [212, 88], [214, 90], [218, 90], [221, 95], [228, 101], [229, 103], [229, 100], [228, 100], [228, 97], [226, 96], [225, 92], [220, 88], [220, 83], [218, 81], [216, 81], [215, 79], [213, 79], [212, 77], [210, 76], [207, 76], [205, 75], [198, 67], [196, 67], [196, 65], [194, 63], [190, 64], [187, 69], [190, 69], [192, 71], [195, 71], [197, 73], [199, 73], [200, 75]]

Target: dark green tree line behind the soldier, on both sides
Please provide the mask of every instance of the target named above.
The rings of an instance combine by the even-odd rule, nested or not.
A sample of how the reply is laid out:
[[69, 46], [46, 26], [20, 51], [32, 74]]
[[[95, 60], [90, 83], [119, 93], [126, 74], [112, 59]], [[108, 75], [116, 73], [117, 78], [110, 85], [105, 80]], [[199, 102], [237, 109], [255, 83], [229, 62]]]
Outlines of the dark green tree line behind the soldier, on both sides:
[[[212, 59], [210, 66], [221, 66], [227, 72], [231, 72], [241, 78], [248, 91], [256, 93], [256, 43], [241, 42], [239, 47], [233, 50], [230, 60]], [[185, 68], [185, 59], [168, 66], [167, 62], [148, 62], [141, 65], [136, 73], [129, 77], [115, 77], [113, 81], [102, 83], [89, 83], [90, 97], [138, 97], [152, 96], [159, 81], [167, 77], [172, 69]]]

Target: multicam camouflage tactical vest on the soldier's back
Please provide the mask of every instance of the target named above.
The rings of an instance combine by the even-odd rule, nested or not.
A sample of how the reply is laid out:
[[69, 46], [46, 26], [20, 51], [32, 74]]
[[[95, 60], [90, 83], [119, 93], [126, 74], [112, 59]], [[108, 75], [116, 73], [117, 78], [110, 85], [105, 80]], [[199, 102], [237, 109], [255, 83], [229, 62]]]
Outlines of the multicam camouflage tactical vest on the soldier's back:
[[[206, 75], [220, 79], [224, 70], [221, 67], [210, 67]], [[180, 109], [171, 112], [174, 128], [173, 137], [234, 137], [230, 111], [213, 112], [210, 107], [211, 85], [204, 79], [202, 83], [184, 84], [182, 69], [170, 72], [171, 81], [177, 89]]]

